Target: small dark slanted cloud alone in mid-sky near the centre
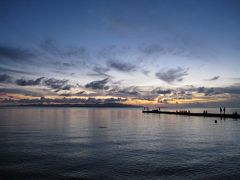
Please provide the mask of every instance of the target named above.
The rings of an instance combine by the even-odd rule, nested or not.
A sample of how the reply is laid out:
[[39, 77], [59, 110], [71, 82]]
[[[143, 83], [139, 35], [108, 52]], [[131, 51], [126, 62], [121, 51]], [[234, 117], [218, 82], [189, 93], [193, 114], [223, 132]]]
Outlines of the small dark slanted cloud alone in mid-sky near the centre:
[[122, 72], [132, 72], [136, 70], [136, 66], [130, 63], [117, 62], [115, 60], [110, 60], [108, 62], [110, 68], [113, 68]]

